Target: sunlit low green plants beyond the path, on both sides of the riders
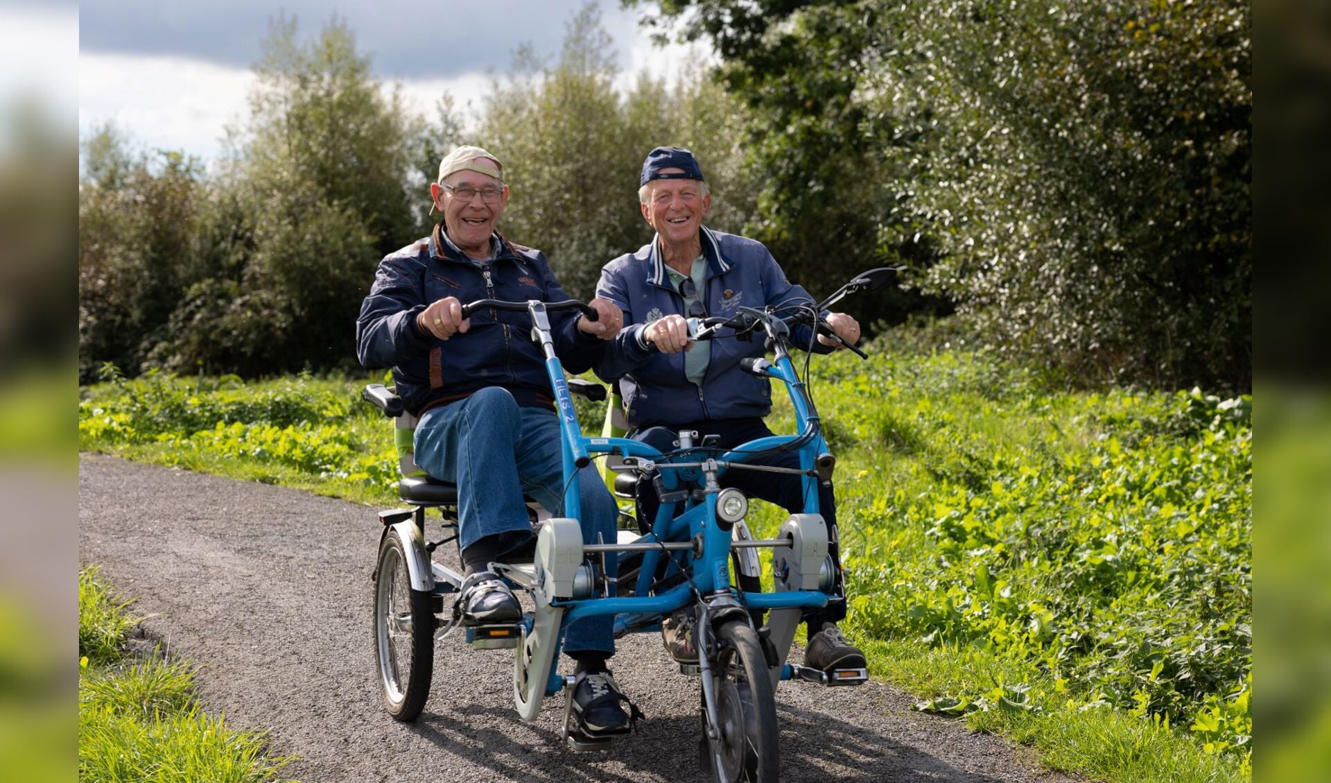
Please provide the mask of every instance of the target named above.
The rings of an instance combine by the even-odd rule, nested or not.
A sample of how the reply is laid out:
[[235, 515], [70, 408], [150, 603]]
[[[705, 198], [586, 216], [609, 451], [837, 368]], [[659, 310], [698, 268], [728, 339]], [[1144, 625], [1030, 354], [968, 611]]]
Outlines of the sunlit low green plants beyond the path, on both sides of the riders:
[[[1059, 390], [917, 341], [815, 362], [848, 631], [874, 672], [1055, 767], [1248, 776], [1251, 399]], [[391, 503], [391, 427], [355, 402], [363, 382], [116, 380], [87, 390], [80, 443]], [[759, 505], [757, 531], [780, 517]]]

